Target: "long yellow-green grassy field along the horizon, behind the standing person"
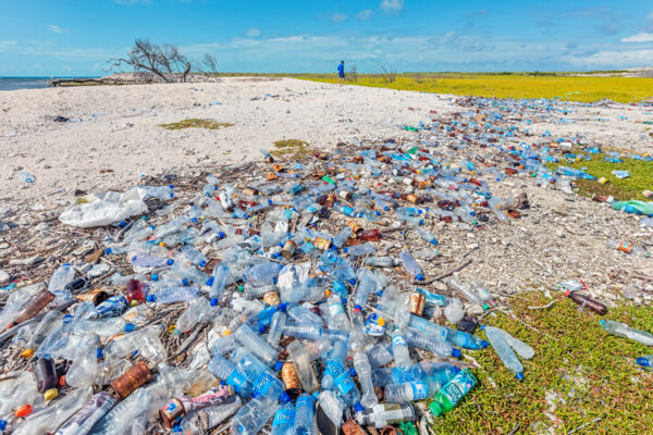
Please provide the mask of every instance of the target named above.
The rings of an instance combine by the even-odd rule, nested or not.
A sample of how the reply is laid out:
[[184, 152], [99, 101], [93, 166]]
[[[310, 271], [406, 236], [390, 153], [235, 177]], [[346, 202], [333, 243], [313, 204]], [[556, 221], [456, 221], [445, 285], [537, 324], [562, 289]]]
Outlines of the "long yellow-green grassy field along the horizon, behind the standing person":
[[[530, 74], [530, 75], [529, 75]], [[317, 82], [337, 83], [335, 75], [306, 75]], [[459, 96], [495, 98], [560, 98], [592, 102], [604, 98], [629, 103], [653, 96], [653, 78], [640, 77], [586, 77], [563, 73], [411, 73], [399, 74], [387, 83], [379, 74], [358, 74], [357, 86], [416, 90]]]

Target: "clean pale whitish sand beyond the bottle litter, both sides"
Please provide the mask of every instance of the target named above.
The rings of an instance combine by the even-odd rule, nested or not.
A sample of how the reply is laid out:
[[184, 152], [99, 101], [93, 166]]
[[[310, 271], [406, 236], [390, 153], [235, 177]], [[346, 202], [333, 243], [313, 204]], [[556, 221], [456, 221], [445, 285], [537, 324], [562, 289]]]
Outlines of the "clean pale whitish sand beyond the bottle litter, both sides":
[[[338, 141], [410, 137], [404, 125], [429, 122], [430, 111], [465, 110], [454, 96], [248, 77], [212, 84], [169, 84], [25, 89], [0, 92], [0, 206], [62, 206], [74, 191], [123, 190], [148, 174], [171, 169], [210, 170], [260, 158], [280, 139], [317, 149]], [[569, 123], [538, 122], [527, 112], [515, 124], [534, 140], [582, 134], [589, 142], [653, 151], [641, 121], [650, 108], [570, 103]], [[53, 122], [54, 116], [73, 122]], [[627, 117], [626, 120], [620, 119]], [[162, 123], [213, 119], [234, 126], [167, 130]], [[576, 120], [576, 121], [574, 121]], [[603, 121], [602, 121], [603, 120]], [[609, 120], [609, 121], [605, 121]], [[17, 173], [36, 183], [25, 185]]]

